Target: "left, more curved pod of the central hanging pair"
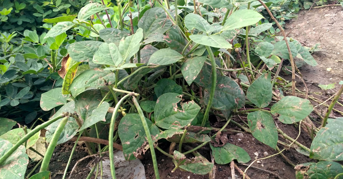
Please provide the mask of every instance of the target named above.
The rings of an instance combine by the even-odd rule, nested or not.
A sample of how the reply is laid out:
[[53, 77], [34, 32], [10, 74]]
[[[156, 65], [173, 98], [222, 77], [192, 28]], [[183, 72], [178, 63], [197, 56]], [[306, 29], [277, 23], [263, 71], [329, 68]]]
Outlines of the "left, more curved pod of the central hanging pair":
[[[114, 111], [112, 113], [111, 117], [111, 123], [109, 125], [109, 134], [108, 134], [108, 143], [112, 144], [113, 143], [113, 133], [114, 133], [114, 125], [116, 124], [116, 118], [118, 115], [118, 110], [121, 105], [121, 103], [126, 99], [129, 98], [131, 94], [125, 95], [123, 98], [121, 98], [118, 103], [116, 104], [116, 107], [114, 108]], [[113, 156], [113, 145], [108, 145], [109, 146], [109, 161], [110, 161], [110, 168], [111, 168], [111, 176], [113, 179], [116, 179], [116, 171], [114, 167], [114, 156]]]

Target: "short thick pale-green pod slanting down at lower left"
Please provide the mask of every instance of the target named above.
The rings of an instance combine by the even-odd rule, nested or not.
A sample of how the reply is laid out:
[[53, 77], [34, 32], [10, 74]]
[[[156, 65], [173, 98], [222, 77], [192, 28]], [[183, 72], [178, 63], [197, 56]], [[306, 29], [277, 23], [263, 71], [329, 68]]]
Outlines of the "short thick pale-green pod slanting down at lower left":
[[51, 159], [51, 156], [52, 154], [54, 153], [54, 150], [56, 148], [56, 144], [57, 144], [57, 141], [63, 131], [63, 128], [64, 126], [67, 124], [68, 122], [68, 118], [69, 117], [64, 117], [61, 122], [58, 124], [55, 132], [54, 132], [54, 135], [52, 136], [51, 138], [51, 141], [49, 143], [49, 146], [48, 148], [46, 149], [46, 152], [45, 152], [45, 156], [43, 158], [43, 162], [42, 162], [42, 166], [40, 166], [40, 170], [39, 172], [42, 172], [42, 171], [47, 171], [48, 168], [49, 168], [49, 163], [50, 163], [50, 159]]

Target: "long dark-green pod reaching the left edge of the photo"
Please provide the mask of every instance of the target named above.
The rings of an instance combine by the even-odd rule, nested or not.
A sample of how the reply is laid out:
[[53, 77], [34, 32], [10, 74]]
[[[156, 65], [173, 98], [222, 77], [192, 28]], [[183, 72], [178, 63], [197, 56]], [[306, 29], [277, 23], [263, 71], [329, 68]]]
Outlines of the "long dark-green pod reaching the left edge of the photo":
[[20, 145], [22, 145], [25, 141], [27, 141], [30, 137], [32, 137], [33, 135], [35, 135], [35, 133], [39, 132], [41, 129], [44, 129], [46, 127], [48, 127], [51, 123], [54, 123], [56, 120], [63, 118], [64, 115], [61, 114], [53, 119], [48, 120], [47, 122], [35, 127], [33, 130], [31, 130], [29, 133], [27, 133], [27, 135], [25, 135], [23, 138], [21, 138], [15, 145], [12, 146], [12, 148], [10, 150], [8, 150], [4, 155], [1, 156], [0, 158], [0, 166], [3, 165], [3, 163], [5, 162], [5, 160], [10, 157], [13, 152], [15, 152], [15, 150], [17, 150], [19, 148]]

